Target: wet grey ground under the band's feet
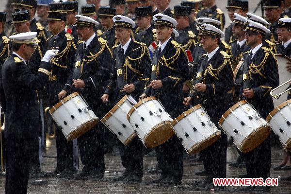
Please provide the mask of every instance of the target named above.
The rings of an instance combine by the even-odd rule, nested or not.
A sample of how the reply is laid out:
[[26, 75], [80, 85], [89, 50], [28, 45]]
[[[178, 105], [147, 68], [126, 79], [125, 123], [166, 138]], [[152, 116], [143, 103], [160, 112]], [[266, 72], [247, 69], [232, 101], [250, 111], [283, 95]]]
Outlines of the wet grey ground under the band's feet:
[[[56, 167], [56, 144], [55, 139], [47, 141], [47, 148], [43, 152], [42, 170], [52, 171]], [[238, 153], [232, 145], [227, 148], [227, 163], [235, 161]], [[272, 167], [277, 165], [283, 157], [281, 148], [272, 148]], [[159, 174], [149, 174], [148, 169], [155, 167], [157, 160], [155, 156], [144, 157], [144, 176], [141, 183], [130, 182], [114, 182], [113, 177], [121, 175], [124, 168], [121, 164], [119, 155], [113, 156], [107, 154], [105, 156], [106, 172], [104, 179], [87, 179], [73, 180], [61, 179], [57, 177], [44, 178], [48, 180], [45, 185], [28, 185], [28, 194], [246, 194], [250, 192], [240, 192], [238, 187], [226, 187], [226, 190], [211, 191], [209, 189], [197, 189], [191, 186], [194, 180], [203, 180], [204, 176], [194, 175], [195, 171], [203, 169], [201, 162], [193, 162], [189, 158], [184, 159], [184, 172], [182, 184], [180, 186], [161, 186], [150, 184], [149, 181], [158, 178]], [[81, 161], [80, 161], [81, 164]], [[82, 164], [80, 166], [82, 168]], [[231, 168], [227, 166], [227, 177], [238, 177], [245, 174], [245, 168]], [[271, 177], [291, 176], [291, 171], [274, 171], [272, 168]], [[32, 181], [33, 178], [30, 178]], [[291, 194], [291, 182], [282, 182], [279, 185], [271, 187], [271, 193]], [[5, 177], [0, 176], [0, 192], [5, 193]]]

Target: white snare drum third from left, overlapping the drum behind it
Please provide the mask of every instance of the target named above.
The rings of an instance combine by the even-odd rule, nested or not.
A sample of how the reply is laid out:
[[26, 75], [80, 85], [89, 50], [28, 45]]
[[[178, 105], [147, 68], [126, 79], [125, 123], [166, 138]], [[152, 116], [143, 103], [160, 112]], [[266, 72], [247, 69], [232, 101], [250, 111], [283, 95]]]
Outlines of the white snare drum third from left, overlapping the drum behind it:
[[174, 135], [173, 121], [156, 97], [150, 96], [134, 105], [127, 115], [146, 147], [156, 147]]

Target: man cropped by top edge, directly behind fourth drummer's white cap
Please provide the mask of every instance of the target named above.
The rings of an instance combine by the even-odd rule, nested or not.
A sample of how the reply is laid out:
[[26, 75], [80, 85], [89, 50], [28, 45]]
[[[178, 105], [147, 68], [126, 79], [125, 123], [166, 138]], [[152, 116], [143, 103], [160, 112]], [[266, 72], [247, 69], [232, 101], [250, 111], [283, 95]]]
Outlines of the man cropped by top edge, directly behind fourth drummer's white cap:
[[203, 7], [197, 14], [197, 18], [200, 17], [210, 17], [210, 18], [217, 18], [220, 21], [220, 30], [223, 31], [224, 26], [226, 24], [226, 18], [221, 11], [221, 9], [217, 8], [215, 4], [215, 0], [203, 0]]

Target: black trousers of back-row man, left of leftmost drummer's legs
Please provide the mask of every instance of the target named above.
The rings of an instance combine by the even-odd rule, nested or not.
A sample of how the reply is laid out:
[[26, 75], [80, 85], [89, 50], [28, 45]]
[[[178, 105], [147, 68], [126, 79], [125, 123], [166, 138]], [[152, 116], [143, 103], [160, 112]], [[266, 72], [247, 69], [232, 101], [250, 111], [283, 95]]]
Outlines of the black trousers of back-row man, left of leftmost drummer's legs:
[[56, 129], [56, 147], [57, 147], [57, 169], [63, 171], [66, 169], [74, 170], [73, 166], [73, 141], [67, 141], [62, 130]]

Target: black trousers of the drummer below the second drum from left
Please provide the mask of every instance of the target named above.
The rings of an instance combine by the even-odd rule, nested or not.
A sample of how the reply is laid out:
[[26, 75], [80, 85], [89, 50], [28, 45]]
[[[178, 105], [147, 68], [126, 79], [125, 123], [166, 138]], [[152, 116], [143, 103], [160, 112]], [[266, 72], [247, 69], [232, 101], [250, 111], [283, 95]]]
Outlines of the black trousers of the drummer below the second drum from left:
[[119, 152], [122, 165], [126, 171], [135, 173], [138, 176], [143, 176], [144, 171], [144, 144], [135, 137], [127, 146], [120, 142]]

